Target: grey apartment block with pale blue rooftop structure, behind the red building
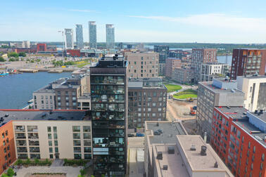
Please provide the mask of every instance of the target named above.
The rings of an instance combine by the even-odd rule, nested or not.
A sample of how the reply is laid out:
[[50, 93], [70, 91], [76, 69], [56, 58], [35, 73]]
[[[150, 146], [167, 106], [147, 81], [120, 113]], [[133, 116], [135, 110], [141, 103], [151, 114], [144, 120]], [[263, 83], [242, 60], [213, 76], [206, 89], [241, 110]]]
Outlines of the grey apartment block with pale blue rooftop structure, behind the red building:
[[198, 134], [212, 136], [213, 109], [215, 106], [243, 106], [243, 91], [236, 89], [236, 81], [213, 79], [198, 83], [196, 124]]

